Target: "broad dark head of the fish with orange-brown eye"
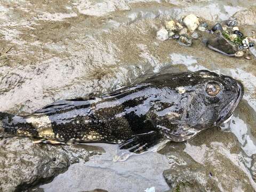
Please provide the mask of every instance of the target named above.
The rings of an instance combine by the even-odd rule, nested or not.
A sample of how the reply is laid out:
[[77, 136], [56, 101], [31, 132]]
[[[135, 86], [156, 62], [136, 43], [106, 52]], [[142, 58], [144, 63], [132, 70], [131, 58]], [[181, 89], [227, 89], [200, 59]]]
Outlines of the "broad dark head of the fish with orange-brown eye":
[[208, 70], [190, 76], [189, 81], [193, 83], [187, 93], [190, 100], [185, 110], [189, 124], [205, 129], [227, 121], [243, 97], [243, 84]]

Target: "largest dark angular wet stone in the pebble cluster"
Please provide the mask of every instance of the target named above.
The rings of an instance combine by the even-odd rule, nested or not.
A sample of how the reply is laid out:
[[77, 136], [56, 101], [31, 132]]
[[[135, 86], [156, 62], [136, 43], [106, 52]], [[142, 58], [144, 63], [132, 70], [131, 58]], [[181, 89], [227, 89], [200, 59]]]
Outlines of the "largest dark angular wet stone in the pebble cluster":
[[235, 53], [238, 51], [237, 46], [223, 37], [220, 31], [216, 34], [215, 38], [209, 39], [207, 46], [214, 51], [228, 56], [235, 56]]

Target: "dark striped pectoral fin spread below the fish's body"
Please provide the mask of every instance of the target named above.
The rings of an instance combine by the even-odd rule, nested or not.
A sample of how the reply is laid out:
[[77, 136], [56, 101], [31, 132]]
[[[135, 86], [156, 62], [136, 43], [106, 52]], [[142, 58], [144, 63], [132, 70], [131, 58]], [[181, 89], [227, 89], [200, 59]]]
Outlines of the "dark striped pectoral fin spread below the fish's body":
[[142, 153], [163, 140], [163, 136], [156, 131], [134, 135], [131, 139], [119, 144], [120, 149], [127, 149], [133, 153]]

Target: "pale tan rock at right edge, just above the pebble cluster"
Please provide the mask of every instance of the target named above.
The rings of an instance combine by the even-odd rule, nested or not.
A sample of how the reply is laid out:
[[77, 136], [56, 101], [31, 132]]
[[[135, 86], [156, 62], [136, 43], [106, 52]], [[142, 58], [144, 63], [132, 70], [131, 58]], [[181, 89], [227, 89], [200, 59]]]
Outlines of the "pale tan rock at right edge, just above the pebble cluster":
[[238, 25], [255, 25], [256, 12], [251, 9], [238, 11], [233, 15], [237, 19]]

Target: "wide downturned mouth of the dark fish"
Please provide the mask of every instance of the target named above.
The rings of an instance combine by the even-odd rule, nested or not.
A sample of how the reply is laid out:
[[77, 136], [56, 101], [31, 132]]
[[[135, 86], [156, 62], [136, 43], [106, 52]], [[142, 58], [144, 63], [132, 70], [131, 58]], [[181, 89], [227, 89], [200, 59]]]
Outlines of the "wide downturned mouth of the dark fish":
[[231, 102], [228, 103], [228, 105], [225, 108], [223, 108], [220, 111], [219, 118], [215, 122], [215, 125], [221, 125], [222, 123], [226, 123], [233, 116], [234, 111], [238, 106], [239, 102], [241, 101], [241, 99], [243, 98], [243, 94], [244, 94], [244, 86], [241, 82], [237, 81], [237, 87], [238, 87], [237, 97], [235, 97]]

